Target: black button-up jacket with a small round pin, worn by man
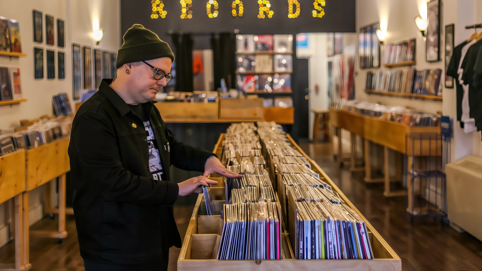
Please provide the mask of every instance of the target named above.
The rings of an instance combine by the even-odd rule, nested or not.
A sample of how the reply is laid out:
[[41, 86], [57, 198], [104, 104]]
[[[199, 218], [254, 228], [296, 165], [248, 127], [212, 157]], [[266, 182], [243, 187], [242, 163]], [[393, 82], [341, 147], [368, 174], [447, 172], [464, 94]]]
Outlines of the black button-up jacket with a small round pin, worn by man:
[[[161, 261], [162, 249], [181, 247], [172, 205], [179, 187], [154, 180], [141, 119], [103, 80], [72, 123], [68, 155], [80, 255], [98, 262]], [[204, 171], [211, 152], [174, 139], [155, 102], [142, 105], [151, 123], [165, 176], [174, 165]]]

